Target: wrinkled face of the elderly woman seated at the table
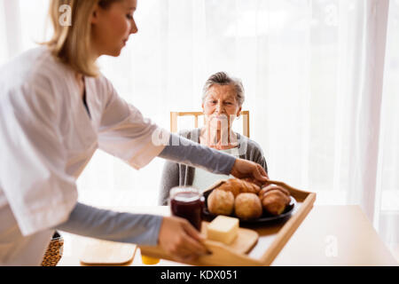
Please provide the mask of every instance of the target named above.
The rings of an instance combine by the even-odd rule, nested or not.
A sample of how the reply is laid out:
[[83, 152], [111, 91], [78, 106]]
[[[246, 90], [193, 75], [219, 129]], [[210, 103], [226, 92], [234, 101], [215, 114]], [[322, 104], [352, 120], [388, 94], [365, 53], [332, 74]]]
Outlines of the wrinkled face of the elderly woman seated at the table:
[[211, 128], [221, 130], [227, 126], [231, 127], [241, 111], [234, 86], [212, 85], [207, 91], [202, 109], [207, 125]]

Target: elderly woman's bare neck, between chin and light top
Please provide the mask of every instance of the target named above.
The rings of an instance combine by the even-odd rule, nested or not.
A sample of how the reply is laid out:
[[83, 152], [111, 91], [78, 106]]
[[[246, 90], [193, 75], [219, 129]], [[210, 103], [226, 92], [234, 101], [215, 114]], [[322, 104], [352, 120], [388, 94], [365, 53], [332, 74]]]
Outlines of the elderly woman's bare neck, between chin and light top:
[[231, 128], [215, 130], [204, 127], [200, 133], [200, 144], [217, 150], [231, 149], [238, 146], [237, 134]]

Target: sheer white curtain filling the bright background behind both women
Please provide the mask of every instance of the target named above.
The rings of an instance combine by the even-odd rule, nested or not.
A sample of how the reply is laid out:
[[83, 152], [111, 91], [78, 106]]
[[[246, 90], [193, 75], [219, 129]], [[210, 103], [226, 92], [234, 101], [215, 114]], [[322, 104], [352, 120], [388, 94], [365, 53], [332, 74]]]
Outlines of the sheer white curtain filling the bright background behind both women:
[[[45, 38], [47, 3], [0, 0], [0, 63]], [[139, 0], [136, 20], [121, 57], [99, 60], [124, 99], [168, 129], [170, 111], [200, 110], [209, 75], [241, 78], [270, 177], [360, 204], [399, 248], [399, 1]], [[98, 152], [80, 199], [155, 205], [162, 164]]]

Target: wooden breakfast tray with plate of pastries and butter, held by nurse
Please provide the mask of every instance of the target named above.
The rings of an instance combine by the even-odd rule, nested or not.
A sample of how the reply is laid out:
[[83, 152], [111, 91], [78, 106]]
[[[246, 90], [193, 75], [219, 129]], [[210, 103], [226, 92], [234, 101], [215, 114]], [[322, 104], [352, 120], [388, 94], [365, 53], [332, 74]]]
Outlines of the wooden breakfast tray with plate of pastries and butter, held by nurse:
[[[193, 265], [270, 265], [316, 200], [280, 181], [267, 185], [237, 178], [221, 180], [204, 193], [201, 233], [211, 255]], [[146, 256], [174, 260], [160, 247], [140, 247]]]

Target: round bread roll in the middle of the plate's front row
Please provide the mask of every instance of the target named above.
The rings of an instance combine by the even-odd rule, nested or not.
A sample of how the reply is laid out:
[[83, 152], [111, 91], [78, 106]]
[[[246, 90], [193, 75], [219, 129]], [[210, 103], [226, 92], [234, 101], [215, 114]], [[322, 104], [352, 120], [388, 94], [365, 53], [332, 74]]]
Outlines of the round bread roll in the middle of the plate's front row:
[[237, 217], [248, 220], [262, 216], [262, 203], [255, 193], [239, 193], [234, 202]]

